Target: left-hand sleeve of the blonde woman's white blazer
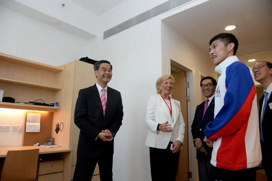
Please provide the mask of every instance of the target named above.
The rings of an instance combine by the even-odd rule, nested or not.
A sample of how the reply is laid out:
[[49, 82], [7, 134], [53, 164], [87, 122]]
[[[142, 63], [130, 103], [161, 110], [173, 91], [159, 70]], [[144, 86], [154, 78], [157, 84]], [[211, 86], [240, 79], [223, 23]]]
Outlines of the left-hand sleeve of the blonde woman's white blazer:
[[152, 131], [153, 133], [157, 133], [158, 123], [155, 122], [154, 112], [155, 112], [155, 100], [154, 97], [150, 95], [146, 105], [145, 123], [150, 131]]

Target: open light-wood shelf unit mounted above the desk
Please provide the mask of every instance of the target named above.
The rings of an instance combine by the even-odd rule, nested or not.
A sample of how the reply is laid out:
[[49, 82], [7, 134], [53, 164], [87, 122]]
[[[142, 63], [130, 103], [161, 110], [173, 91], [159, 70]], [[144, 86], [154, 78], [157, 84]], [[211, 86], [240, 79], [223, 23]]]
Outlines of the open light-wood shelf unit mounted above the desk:
[[64, 66], [50, 66], [24, 58], [0, 53], [0, 89], [3, 97], [15, 102], [60, 103], [60, 107], [46, 107], [18, 103], [0, 103], [2, 108], [56, 112], [61, 108]]

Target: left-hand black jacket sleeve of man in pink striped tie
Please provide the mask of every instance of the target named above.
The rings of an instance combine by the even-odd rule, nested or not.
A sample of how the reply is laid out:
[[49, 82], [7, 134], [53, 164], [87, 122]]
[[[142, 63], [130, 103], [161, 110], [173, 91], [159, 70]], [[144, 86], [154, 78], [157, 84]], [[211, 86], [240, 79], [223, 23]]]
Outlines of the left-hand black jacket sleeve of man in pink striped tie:
[[95, 140], [100, 131], [87, 120], [87, 111], [86, 91], [81, 89], [78, 92], [78, 99], [74, 111], [74, 123], [77, 125], [80, 131], [84, 133], [84, 135], [87, 135], [91, 140]]

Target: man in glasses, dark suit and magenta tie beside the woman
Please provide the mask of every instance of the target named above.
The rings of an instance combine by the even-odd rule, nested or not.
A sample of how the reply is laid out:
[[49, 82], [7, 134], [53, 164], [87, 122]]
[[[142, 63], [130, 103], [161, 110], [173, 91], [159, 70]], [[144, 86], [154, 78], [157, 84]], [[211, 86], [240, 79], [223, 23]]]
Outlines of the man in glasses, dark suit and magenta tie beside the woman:
[[214, 91], [216, 85], [217, 82], [214, 78], [202, 78], [200, 86], [202, 94], [206, 97], [206, 101], [197, 106], [192, 123], [194, 146], [197, 149], [196, 158], [198, 159], [199, 181], [210, 180], [210, 159], [213, 149], [208, 147], [203, 140], [205, 138], [204, 130], [206, 125], [214, 120]]

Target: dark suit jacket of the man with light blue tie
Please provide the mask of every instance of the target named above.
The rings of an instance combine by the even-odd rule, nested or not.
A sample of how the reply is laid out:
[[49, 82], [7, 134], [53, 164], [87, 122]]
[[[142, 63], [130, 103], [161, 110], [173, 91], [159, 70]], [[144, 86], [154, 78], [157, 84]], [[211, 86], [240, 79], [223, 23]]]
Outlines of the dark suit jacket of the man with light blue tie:
[[[272, 93], [272, 92], [271, 92]], [[261, 114], [262, 114], [262, 103], [264, 101], [264, 95], [260, 99], [260, 110], [259, 110], [259, 120], [261, 121]], [[263, 133], [263, 142], [261, 140], [261, 148], [262, 148], [262, 161], [266, 161], [271, 165], [272, 162], [272, 155], [270, 151], [270, 128], [272, 126], [272, 110], [269, 107], [269, 103], [272, 103], [272, 95], [270, 94], [270, 97], [267, 101], [263, 120], [262, 120], [262, 133]], [[261, 124], [260, 124], [261, 126]], [[260, 127], [261, 131], [261, 127]]]

